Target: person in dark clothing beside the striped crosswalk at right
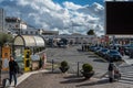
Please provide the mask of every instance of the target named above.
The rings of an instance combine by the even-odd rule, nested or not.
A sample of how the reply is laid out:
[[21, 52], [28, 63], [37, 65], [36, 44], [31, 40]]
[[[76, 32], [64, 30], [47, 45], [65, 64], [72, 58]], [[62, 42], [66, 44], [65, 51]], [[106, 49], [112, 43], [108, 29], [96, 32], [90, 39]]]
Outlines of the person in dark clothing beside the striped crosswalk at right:
[[112, 82], [114, 80], [114, 65], [113, 62], [109, 63], [109, 81]]

